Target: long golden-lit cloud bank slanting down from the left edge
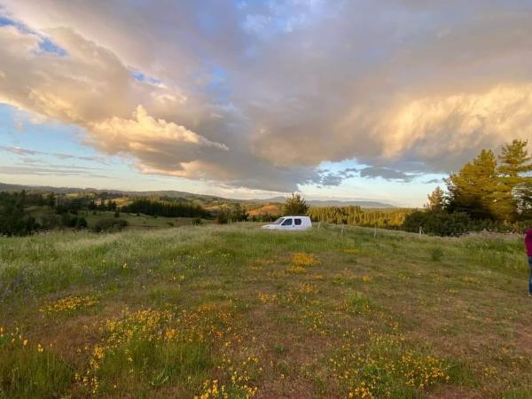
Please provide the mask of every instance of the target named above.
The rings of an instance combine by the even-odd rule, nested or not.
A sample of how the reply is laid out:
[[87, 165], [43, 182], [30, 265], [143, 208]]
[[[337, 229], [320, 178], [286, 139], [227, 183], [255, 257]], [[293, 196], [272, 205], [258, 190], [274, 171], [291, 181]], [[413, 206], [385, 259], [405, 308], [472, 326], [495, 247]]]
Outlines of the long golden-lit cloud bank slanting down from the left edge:
[[[86, 130], [88, 144], [102, 153], [134, 160], [146, 174], [280, 191], [293, 190], [312, 177], [311, 169], [278, 169], [250, 154], [247, 139], [241, 136], [246, 121], [231, 107], [204, 105], [195, 99], [184, 103], [179, 91], [138, 81], [111, 51], [74, 31], [47, 32], [66, 49], [66, 56], [37, 54], [37, 35], [0, 27], [0, 59], [9, 60], [2, 66], [9, 79], [0, 81], [0, 101], [76, 123]], [[180, 101], [160, 101], [169, 93], [181, 96]], [[211, 118], [212, 113], [223, 118]], [[220, 119], [231, 125], [219, 126]], [[175, 121], [203, 130], [208, 137]], [[221, 131], [223, 143], [215, 139]]]

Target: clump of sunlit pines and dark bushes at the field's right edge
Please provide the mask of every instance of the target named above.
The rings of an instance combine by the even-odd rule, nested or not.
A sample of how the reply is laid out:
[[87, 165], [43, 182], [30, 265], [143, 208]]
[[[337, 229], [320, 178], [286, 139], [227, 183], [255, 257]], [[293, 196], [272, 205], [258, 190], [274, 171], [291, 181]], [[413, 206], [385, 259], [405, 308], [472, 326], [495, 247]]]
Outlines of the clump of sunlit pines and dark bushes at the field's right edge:
[[483, 229], [519, 231], [532, 221], [532, 157], [526, 140], [503, 145], [496, 156], [482, 150], [428, 195], [425, 211], [404, 223], [407, 231], [458, 235]]

